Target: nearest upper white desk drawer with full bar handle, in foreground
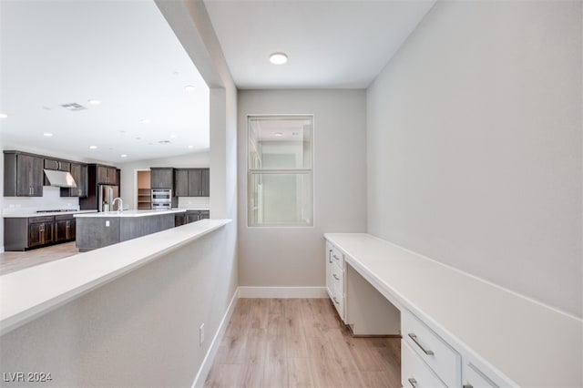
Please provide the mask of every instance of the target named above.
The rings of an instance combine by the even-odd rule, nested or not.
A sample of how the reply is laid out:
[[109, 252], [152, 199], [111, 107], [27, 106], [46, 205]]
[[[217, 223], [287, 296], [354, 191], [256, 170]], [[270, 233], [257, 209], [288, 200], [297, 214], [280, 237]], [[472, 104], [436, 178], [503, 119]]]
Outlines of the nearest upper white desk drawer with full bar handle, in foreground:
[[461, 359], [458, 352], [409, 311], [401, 311], [401, 328], [404, 342], [447, 386], [461, 385]]

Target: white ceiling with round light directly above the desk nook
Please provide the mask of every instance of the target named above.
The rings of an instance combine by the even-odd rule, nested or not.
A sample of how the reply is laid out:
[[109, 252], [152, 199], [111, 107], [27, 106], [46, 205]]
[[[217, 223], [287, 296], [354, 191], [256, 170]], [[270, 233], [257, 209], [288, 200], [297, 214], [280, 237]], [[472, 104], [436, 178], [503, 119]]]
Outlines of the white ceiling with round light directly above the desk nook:
[[[204, 0], [240, 88], [364, 88], [435, 0]], [[274, 66], [271, 53], [289, 56]]]

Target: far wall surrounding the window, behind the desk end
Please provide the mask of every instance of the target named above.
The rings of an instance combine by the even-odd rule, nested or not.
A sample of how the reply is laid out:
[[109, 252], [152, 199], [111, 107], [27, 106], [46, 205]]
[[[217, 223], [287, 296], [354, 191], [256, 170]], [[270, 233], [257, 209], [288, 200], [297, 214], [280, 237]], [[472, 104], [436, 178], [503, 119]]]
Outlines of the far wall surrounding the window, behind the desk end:
[[[247, 115], [314, 115], [314, 227], [247, 226]], [[241, 286], [323, 286], [324, 232], [366, 226], [363, 90], [240, 90], [239, 281]]]

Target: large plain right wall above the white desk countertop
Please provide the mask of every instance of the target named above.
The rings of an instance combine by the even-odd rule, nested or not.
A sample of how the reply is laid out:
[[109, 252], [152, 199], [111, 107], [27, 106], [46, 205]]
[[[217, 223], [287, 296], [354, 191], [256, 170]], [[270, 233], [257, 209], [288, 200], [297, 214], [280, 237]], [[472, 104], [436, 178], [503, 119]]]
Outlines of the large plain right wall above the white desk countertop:
[[368, 231], [577, 316], [581, 5], [437, 2], [367, 92]]

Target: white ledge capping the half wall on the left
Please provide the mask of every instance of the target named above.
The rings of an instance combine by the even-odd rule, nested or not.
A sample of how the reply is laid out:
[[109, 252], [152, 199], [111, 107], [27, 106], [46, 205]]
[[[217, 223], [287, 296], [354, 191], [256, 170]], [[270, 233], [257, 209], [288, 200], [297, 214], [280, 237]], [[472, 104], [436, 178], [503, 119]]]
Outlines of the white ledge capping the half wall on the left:
[[200, 220], [0, 276], [0, 335], [229, 223]]

